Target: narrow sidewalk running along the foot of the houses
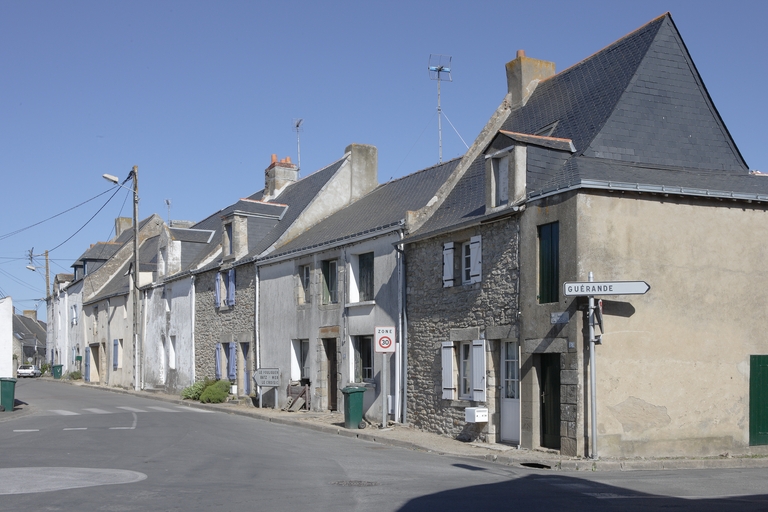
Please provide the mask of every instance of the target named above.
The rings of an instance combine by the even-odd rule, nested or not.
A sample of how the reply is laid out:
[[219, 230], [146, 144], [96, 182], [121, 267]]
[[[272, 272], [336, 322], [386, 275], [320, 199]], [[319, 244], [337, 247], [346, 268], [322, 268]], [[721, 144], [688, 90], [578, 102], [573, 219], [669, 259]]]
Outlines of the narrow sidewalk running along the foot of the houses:
[[[768, 467], [766, 456], [724, 456], [706, 458], [637, 458], [637, 459], [598, 459], [591, 460], [577, 457], [564, 457], [554, 451], [538, 451], [517, 449], [503, 444], [465, 443], [422, 432], [413, 427], [393, 424], [390, 428], [379, 429], [369, 427], [361, 430], [344, 428], [344, 414], [339, 412], [286, 412], [276, 409], [259, 409], [252, 405], [235, 404], [201, 404], [191, 400], [182, 400], [178, 395], [167, 395], [155, 391], [133, 391], [122, 388], [96, 386], [82, 381], [58, 380], [43, 377], [51, 382], [94, 387], [114, 393], [130, 394], [150, 398], [176, 405], [196, 407], [212, 411], [226, 412], [254, 419], [269, 421], [281, 425], [292, 425], [316, 430], [326, 434], [335, 434], [357, 438], [364, 441], [397, 446], [410, 450], [466, 457], [486, 462], [494, 462], [508, 466], [524, 466], [543, 470], [559, 471], [633, 471], [633, 470], [662, 470], [662, 469], [706, 469], [706, 468], [765, 468]], [[26, 409], [23, 407], [22, 409]], [[24, 413], [25, 411], [19, 411]], [[0, 413], [2, 418], [4, 413]], [[16, 417], [16, 412], [13, 413]], [[26, 415], [26, 414], [23, 414]], [[5, 418], [2, 418], [5, 419]]]

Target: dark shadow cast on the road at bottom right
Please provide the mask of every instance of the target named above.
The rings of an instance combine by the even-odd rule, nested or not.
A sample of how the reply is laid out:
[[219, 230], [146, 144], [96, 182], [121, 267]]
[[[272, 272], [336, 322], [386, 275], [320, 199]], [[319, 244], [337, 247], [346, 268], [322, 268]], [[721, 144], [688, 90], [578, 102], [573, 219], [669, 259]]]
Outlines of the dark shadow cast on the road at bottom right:
[[562, 474], [536, 474], [497, 484], [461, 487], [414, 498], [399, 510], [466, 512], [484, 509], [569, 512], [659, 509], [696, 512], [765, 511], [768, 510], [768, 495], [676, 498], [641, 493]]

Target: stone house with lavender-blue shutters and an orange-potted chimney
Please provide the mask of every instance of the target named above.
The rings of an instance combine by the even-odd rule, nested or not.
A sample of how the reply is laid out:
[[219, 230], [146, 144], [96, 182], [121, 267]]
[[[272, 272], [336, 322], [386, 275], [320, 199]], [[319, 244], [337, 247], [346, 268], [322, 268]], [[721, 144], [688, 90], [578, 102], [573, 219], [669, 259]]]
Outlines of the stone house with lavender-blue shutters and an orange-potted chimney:
[[250, 394], [260, 367], [256, 258], [299, 236], [376, 185], [376, 148], [352, 144], [343, 157], [299, 179], [290, 159], [265, 170], [265, 187], [216, 214], [215, 247], [194, 277], [195, 379], [228, 378]]

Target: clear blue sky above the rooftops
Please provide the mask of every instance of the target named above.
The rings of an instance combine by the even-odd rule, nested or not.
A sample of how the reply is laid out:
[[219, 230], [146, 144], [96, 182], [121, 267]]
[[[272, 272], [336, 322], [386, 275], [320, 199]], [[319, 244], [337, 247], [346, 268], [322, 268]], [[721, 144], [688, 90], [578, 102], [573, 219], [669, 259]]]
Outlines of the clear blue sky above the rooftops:
[[[430, 54], [453, 56], [442, 106], [471, 144], [516, 50], [560, 71], [667, 11], [750, 168], [768, 172], [768, 2], [2, 0], [0, 295], [35, 307], [44, 274], [27, 251], [60, 245], [109, 195], [6, 235], [109, 189], [103, 173], [139, 166], [142, 218], [167, 218], [170, 199], [173, 219], [201, 220], [263, 188], [272, 153], [296, 161], [303, 118], [304, 173], [356, 142], [378, 147], [387, 181], [437, 163]], [[464, 149], [444, 122], [443, 159]], [[126, 196], [51, 252], [52, 275], [131, 216]]]

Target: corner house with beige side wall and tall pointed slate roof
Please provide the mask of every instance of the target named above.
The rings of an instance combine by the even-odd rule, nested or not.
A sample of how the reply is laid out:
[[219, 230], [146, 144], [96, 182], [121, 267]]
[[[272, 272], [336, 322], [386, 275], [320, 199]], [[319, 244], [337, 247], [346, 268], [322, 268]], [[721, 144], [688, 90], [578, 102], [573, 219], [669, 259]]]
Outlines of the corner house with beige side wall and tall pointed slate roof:
[[[671, 16], [557, 74], [519, 54], [507, 77], [524, 94], [405, 239], [411, 421], [572, 456], [762, 453], [768, 180]], [[456, 290], [477, 236], [480, 281]], [[652, 287], [598, 297], [594, 403], [587, 302], [563, 288], [590, 273]]]

